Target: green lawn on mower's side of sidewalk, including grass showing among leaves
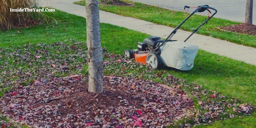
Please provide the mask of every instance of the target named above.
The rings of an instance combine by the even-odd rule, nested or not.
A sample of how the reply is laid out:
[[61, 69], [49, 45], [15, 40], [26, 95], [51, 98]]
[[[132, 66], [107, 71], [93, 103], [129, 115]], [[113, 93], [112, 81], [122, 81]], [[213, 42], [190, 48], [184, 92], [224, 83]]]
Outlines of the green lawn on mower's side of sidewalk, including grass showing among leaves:
[[[33, 72], [36, 71], [38, 67], [43, 67], [43, 65], [38, 65], [37, 62], [26, 63], [27, 61], [24, 61], [22, 63], [19, 63], [19, 61], [17, 60], [21, 58], [20, 56], [13, 55], [13, 57], [6, 57], [3, 51], [12, 52], [15, 49], [20, 49], [20, 52], [24, 55], [28, 52], [33, 55], [39, 53], [44, 54], [42, 52], [38, 53], [38, 51], [41, 50], [40, 47], [42, 47], [42, 45], [49, 44], [51, 46], [51, 43], [60, 41], [64, 42], [64, 44], [67, 45], [67, 49], [56, 51], [58, 47], [49, 46], [46, 49], [50, 52], [50, 55], [58, 53], [58, 56], [52, 56], [51, 58], [50, 55], [47, 54], [48, 57], [42, 57], [42, 59], [48, 61], [54, 58], [56, 59], [58, 57], [67, 57], [65, 61], [72, 65], [73, 62], [71, 60], [68, 60], [68, 56], [66, 56], [66, 54], [70, 54], [73, 52], [72, 50], [70, 50], [70, 47], [72, 47], [73, 45], [72, 43], [74, 43], [73, 40], [83, 43], [86, 41], [85, 19], [83, 17], [67, 14], [60, 11], [57, 11], [56, 13], [49, 13], [49, 15], [54, 17], [58, 21], [58, 24], [43, 23], [41, 25], [29, 28], [17, 28], [1, 31], [2, 36], [0, 37], [0, 66], [5, 68], [0, 67], [0, 73], [4, 73], [4, 71], [12, 71], [14, 69], [19, 69], [20, 72]], [[109, 52], [113, 52], [116, 54], [122, 54], [122, 51], [124, 49], [130, 48], [131, 46], [133, 48], [136, 48], [136, 43], [138, 41], [143, 41], [144, 38], [147, 38], [149, 36], [147, 34], [143, 34], [122, 27], [117, 27], [110, 24], [101, 23], [100, 27], [102, 46], [106, 47]], [[24, 50], [26, 49], [25, 44], [29, 43], [31, 43], [34, 47], [37, 47], [38, 49]], [[82, 45], [81, 49], [85, 51], [85, 45]], [[83, 58], [77, 58], [74, 62], [76, 62], [77, 64], [83, 64], [85, 68], [82, 70], [76, 70], [76, 65], [74, 64], [73, 66], [71, 66], [72, 70], [70, 70], [69, 72], [56, 73], [54, 74], [54, 76], [60, 77], [67, 76], [73, 73], [87, 73], [86, 61]], [[140, 70], [141, 73], [143, 73], [143, 70], [145, 69], [139, 67], [137, 68]], [[52, 69], [49, 68], [49, 70]], [[165, 70], [165, 72], [162, 72], [163, 70]], [[105, 75], [116, 74], [118, 76], [129, 76], [132, 72], [137, 71], [126, 70], [125, 73], [122, 74], [118, 70], [111, 70], [106, 72]], [[167, 74], [172, 74], [173, 76], [186, 80], [187, 84], [201, 84], [205, 89], [211, 89], [217, 92], [221, 92], [224, 95], [240, 99], [242, 102], [254, 102], [256, 99], [256, 66], [205, 52], [203, 50], [199, 50], [195, 60], [195, 67], [190, 71], [183, 72], [174, 69], [161, 69], [154, 72], [160, 74], [160, 76], [162, 77]], [[36, 75], [38, 75], [38, 73], [35, 73], [35, 76]], [[0, 77], [0, 83], [6, 83], [16, 80], [18, 81], [19, 79], [21, 79], [16, 77], [15, 74], [7, 73], [7, 76], [8, 77]], [[22, 83], [19, 84], [29, 84], [35, 76], [22, 78], [24, 80], [22, 81]], [[156, 77], [147, 76], [147, 73], [141, 74], [141, 76], [145, 79], [159, 81], [159, 79], [157, 79]], [[4, 84], [1, 84], [1, 95], [3, 95], [3, 93], [5, 93], [7, 90], [10, 90], [11, 87], [15, 84], [16, 83], [10, 83], [10, 86], [7, 87], [5, 87]], [[255, 118], [256, 116], [255, 114], [253, 114], [253, 116], [244, 117], [245, 120], [242, 119], [242, 121], [244, 122], [241, 122], [241, 119], [239, 118], [225, 120], [223, 122], [217, 121], [213, 125], [213, 127], [218, 127], [222, 123], [228, 125], [230, 124], [230, 122], [236, 122], [237, 125], [240, 125], [241, 127], [250, 126], [253, 122], [253, 119], [255, 120]]]

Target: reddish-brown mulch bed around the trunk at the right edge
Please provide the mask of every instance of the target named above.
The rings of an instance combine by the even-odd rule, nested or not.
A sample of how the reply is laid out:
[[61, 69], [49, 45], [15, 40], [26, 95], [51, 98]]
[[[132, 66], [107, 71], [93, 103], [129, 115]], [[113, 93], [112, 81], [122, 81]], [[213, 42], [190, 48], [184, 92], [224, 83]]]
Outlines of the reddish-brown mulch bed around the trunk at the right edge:
[[231, 25], [231, 26], [221, 27], [221, 29], [256, 36], [256, 25], [253, 25], [253, 24]]

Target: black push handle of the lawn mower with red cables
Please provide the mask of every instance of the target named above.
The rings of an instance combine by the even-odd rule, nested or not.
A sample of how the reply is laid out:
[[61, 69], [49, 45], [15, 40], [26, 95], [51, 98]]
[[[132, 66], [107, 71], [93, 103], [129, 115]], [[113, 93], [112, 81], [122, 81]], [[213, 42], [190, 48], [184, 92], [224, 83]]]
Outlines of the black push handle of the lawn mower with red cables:
[[[177, 30], [180, 28], [180, 26], [185, 23], [193, 14], [195, 14], [196, 12], [204, 12], [205, 10], [208, 11], [208, 14], [209, 12], [211, 13], [211, 11], [209, 9], [212, 9], [214, 10], [215, 12], [212, 14], [212, 16], [209, 16], [208, 15], [208, 18], [206, 20], [204, 20], [204, 22], [199, 26], [197, 27], [196, 29], [193, 30], [193, 32], [185, 39], [184, 42], [186, 42], [188, 40], [189, 37], [191, 37], [194, 33], [196, 33], [197, 30], [199, 30], [205, 23], [207, 23], [208, 20], [210, 20], [216, 13], [217, 13], [217, 10], [215, 8], [212, 8], [212, 7], [209, 7], [208, 5], [202, 5], [202, 6], [197, 6], [197, 7], [189, 7], [189, 6], [184, 6], [184, 11], [186, 12], [186, 8], [196, 8], [196, 10], [194, 12], [192, 12], [190, 15], [188, 15], [188, 17], [183, 20], [173, 31], [172, 33], [164, 40], [164, 42], [162, 44], [158, 43], [156, 45], [156, 48], [154, 51], [158, 50], [161, 46], [163, 46], [164, 44], [166, 44], [167, 42], [169, 41], [174, 41], [174, 40], [171, 40], [172, 36], [177, 32]], [[187, 12], [186, 12], [187, 13]]]

